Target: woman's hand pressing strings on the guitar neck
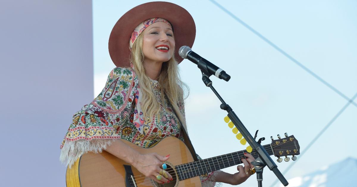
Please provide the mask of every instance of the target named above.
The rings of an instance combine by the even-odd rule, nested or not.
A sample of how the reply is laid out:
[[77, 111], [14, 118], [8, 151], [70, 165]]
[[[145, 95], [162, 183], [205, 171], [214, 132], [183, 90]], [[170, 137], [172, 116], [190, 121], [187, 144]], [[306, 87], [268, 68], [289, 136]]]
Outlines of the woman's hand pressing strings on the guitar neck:
[[239, 172], [233, 174], [232, 182], [231, 182], [232, 185], [241, 184], [242, 182], [246, 181], [248, 177], [252, 175], [251, 169], [253, 169], [254, 166], [250, 163], [253, 162], [255, 158], [249, 153], [244, 153], [244, 156], [246, 157], [246, 159], [245, 158], [241, 159], [241, 161], [244, 164], [244, 167], [241, 165], [237, 166], [237, 170]]

